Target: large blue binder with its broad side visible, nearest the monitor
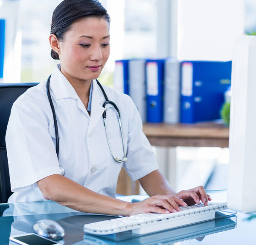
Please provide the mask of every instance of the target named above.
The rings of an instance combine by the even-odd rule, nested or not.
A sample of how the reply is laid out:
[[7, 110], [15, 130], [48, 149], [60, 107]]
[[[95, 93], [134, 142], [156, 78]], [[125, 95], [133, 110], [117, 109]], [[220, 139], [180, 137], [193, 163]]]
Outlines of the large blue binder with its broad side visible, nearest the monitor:
[[181, 63], [180, 122], [220, 119], [224, 92], [231, 82], [231, 61]]

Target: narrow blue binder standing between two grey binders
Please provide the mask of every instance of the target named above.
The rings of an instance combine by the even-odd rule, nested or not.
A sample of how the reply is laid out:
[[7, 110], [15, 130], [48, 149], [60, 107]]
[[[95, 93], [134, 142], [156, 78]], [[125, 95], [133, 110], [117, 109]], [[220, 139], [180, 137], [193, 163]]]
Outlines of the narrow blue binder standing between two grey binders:
[[146, 60], [147, 122], [163, 121], [165, 60]]

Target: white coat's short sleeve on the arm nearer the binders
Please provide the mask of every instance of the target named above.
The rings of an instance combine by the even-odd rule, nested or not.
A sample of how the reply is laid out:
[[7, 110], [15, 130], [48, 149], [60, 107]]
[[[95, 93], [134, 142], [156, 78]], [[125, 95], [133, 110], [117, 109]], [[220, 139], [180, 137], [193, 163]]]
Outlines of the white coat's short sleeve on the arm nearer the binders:
[[127, 161], [123, 167], [131, 177], [137, 180], [158, 169], [156, 154], [142, 131], [140, 114], [129, 98]]

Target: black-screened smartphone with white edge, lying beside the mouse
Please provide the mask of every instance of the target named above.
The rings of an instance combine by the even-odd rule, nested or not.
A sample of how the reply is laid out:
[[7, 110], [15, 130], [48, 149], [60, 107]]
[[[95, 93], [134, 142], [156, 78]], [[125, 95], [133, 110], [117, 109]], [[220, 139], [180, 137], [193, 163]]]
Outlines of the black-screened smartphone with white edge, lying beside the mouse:
[[22, 245], [54, 245], [58, 244], [57, 242], [53, 242], [52, 240], [45, 238], [43, 236], [38, 236], [34, 233], [28, 233], [24, 235], [18, 236], [10, 236], [11, 241], [16, 242]]

